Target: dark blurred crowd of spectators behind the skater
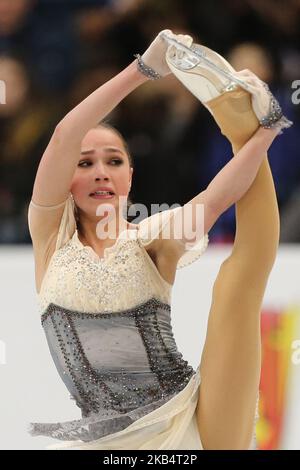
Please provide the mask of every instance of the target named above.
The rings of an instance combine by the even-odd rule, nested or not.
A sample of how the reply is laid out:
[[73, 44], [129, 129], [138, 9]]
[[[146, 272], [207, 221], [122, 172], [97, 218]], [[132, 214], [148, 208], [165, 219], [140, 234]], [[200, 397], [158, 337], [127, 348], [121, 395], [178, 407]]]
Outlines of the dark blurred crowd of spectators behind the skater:
[[[281, 241], [300, 242], [300, 0], [0, 0], [0, 243], [30, 243], [27, 209], [56, 124], [143, 53], [159, 31], [188, 33], [267, 81], [294, 126], [269, 151]], [[174, 77], [148, 82], [110, 114], [135, 161], [131, 200], [184, 204], [232, 156], [210, 113]], [[64, 156], [62, 155], [62, 158]], [[234, 207], [210, 232], [232, 242]]]

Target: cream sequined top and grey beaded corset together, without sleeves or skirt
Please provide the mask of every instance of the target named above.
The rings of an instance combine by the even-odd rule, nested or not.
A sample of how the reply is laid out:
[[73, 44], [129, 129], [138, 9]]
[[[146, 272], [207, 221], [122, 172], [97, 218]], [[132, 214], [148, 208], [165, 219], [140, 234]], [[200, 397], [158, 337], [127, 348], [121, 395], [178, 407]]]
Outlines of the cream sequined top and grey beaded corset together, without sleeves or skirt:
[[36, 424], [35, 433], [105, 436], [161, 406], [194, 374], [174, 341], [171, 285], [136, 231], [125, 235], [100, 258], [75, 231], [50, 261], [38, 296], [41, 321], [82, 420]]

